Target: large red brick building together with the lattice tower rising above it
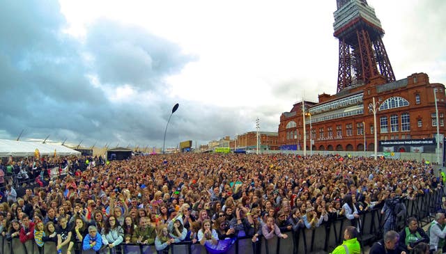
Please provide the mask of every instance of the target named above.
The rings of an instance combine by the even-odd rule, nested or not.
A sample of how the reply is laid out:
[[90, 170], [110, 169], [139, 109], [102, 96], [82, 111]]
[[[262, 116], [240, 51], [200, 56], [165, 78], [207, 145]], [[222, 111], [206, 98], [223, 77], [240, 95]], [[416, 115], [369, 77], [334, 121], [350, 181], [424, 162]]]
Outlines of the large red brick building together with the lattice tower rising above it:
[[282, 113], [279, 148], [310, 150], [313, 141], [312, 150], [374, 151], [378, 143], [380, 152], [435, 151], [437, 126], [440, 143], [445, 134], [445, 86], [431, 84], [424, 73], [395, 79], [384, 30], [367, 1], [337, 0], [333, 28], [337, 94], [323, 93], [318, 102], [299, 102]]

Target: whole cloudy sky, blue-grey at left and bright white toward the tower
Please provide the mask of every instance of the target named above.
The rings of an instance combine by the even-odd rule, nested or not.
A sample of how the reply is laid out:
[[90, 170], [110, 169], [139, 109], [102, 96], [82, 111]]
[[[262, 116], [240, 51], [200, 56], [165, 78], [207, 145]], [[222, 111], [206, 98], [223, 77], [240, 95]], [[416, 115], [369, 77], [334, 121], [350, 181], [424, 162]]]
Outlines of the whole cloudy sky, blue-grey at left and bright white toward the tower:
[[[369, 0], [397, 79], [446, 84], [446, 1]], [[335, 0], [18, 0], [0, 8], [0, 138], [112, 147], [277, 132], [337, 88]]]

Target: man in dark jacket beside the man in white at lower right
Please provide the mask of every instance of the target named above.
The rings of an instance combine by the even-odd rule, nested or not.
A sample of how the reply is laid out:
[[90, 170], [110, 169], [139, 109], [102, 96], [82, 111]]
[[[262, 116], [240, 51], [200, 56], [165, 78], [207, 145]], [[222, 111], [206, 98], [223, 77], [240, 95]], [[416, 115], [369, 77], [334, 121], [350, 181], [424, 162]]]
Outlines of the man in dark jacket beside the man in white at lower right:
[[429, 244], [429, 237], [422, 228], [418, 227], [417, 219], [410, 217], [408, 219], [408, 226], [399, 232], [399, 246], [408, 252], [420, 242]]

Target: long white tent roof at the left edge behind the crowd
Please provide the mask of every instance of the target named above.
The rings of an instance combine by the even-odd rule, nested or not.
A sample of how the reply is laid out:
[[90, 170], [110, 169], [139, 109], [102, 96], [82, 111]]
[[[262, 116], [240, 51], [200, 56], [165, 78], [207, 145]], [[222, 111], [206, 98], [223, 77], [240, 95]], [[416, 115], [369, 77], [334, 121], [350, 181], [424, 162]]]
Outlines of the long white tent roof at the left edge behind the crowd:
[[63, 145], [56, 145], [51, 143], [36, 143], [26, 141], [10, 141], [7, 139], [0, 139], [0, 157], [28, 157], [34, 156], [36, 149], [39, 150], [40, 156], [54, 155], [56, 150], [57, 155], [67, 156], [76, 155], [80, 156], [81, 153], [71, 148], [67, 148]]

